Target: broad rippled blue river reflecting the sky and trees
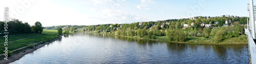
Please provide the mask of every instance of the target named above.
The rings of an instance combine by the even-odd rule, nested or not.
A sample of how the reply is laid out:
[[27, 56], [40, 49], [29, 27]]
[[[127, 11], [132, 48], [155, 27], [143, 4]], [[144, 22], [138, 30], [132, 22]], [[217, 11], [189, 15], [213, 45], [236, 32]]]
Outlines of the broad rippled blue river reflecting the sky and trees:
[[12, 63], [249, 63], [247, 45], [190, 45], [83, 33]]

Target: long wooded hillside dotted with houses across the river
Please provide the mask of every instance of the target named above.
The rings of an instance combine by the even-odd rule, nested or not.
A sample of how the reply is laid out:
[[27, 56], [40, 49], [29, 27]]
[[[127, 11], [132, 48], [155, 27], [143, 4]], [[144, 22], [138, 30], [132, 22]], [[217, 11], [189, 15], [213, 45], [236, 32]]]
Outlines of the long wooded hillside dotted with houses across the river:
[[[223, 26], [226, 24], [225, 21], [228, 21], [229, 26]], [[212, 24], [214, 27], [205, 27], [201, 25], [202, 23]], [[244, 26], [241, 24], [246, 23], [247, 17], [198, 16], [193, 19], [168, 19], [163, 21], [134, 22], [131, 24], [61, 25], [45, 27], [45, 29], [62, 28], [68, 31], [108, 33], [148, 39], [156, 39], [157, 36], [167, 36], [170, 41], [186, 41], [188, 37], [205, 37], [207, 39], [214, 37], [215, 41], [221, 41], [224, 38], [243, 35]], [[188, 24], [189, 27], [185, 27], [184, 24]]]

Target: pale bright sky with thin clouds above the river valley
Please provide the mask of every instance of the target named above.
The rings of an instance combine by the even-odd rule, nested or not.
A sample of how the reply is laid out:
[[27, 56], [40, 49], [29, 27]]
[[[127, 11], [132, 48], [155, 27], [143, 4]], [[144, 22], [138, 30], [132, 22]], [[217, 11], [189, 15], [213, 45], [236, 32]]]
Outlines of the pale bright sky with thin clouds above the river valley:
[[[96, 25], [181, 19], [194, 16], [248, 16], [248, 0], [1, 0], [9, 18], [34, 25]], [[255, 2], [254, 2], [255, 3]], [[2, 12], [2, 13], [1, 13]]]

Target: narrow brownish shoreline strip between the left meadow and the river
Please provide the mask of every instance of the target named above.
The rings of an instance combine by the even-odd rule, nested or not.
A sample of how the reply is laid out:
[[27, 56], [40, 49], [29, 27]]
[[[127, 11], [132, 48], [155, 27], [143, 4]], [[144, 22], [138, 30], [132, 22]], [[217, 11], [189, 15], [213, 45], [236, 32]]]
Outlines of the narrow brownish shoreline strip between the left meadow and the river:
[[24, 53], [23, 53], [23, 52], [19, 52], [19, 53], [17, 53], [17, 54], [14, 54], [14, 55], [12, 55], [11, 57], [8, 57], [8, 60], [6, 60], [6, 59], [1, 59], [1, 60], [0, 60], [0, 64], [10, 63], [10, 62], [14, 62], [14, 61], [16, 61], [16, 60], [19, 60], [20, 58], [24, 57], [26, 54], [29, 54], [29, 53], [31, 53], [31, 52], [34, 52], [35, 50], [37, 50], [37, 49], [39, 49], [39, 48], [41, 48], [41, 47], [43, 47], [43, 46], [45, 46], [45, 45], [47, 45], [47, 44], [49, 44], [49, 43], [52, 43], [52, 42], [54, 42], [54, 41], [56, 41], [56, 40], [58, 40], [58, 39], [61, 39], [62, 36], [64, 36], [64, 35], [61, 35], [61, 36], [59, 36], [59, 38], [56, 38], [56, 39], [54, 39], [54, 40], [52, 40], [52, 41], [50, 41], [50, 42], [46, 42], [46, 43], [44, 43], [44, 44], [40, 44], [40, 45], [36, 46], [36, 48], [27, 49], [26, 52], [24, 52]]

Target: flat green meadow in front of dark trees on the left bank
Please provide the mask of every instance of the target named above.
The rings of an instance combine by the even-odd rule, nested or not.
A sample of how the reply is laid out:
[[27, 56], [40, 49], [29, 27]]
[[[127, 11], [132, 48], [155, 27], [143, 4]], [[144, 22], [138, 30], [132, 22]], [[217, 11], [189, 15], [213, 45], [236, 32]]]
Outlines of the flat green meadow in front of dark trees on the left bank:
[[[35, 38], [29, 38], [29, 39], [24, 39], [24, 40], [19, 40], [19, 41], [15, 41], [15, 42], [10, 42], [8, 43], [8, 50], [12, 51], [18, 48], [22, 48], [25, 46], [28, 46], [30, 43], [33, 42], [40, 42], [43, 41], [43, 43], [45, 43], [46, 41], [50, 41], [50, 40], [54, 40], [56, 38], [58, 38], [57, 36], [57, 30], [44, 30], [43, 31], [44, 34], [23, 34], [23, 35], [12, 35], [12, 36], [8, 36], [8, 41], [15, 41], [15, 40], [19, 40], [19, 39], [24, 39], [24, 38], [28, 38], [28, 37], [34, 37], [34, 36], [39, 36], [39, 37], [35, 37]], [[3, 37], [1, 37], [3, 38]], [[0, 42], [4, 42], [4, 40], [2, 39]], [[4, 51], [5, 49], [2, 49], [6, 46], [4, 46], [4, 44], [0, 44], [0, 51]], [[0, 54], [3, 54], [4, 52], [0, 52]]]

